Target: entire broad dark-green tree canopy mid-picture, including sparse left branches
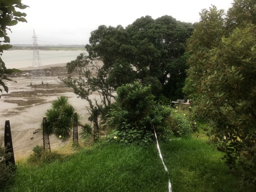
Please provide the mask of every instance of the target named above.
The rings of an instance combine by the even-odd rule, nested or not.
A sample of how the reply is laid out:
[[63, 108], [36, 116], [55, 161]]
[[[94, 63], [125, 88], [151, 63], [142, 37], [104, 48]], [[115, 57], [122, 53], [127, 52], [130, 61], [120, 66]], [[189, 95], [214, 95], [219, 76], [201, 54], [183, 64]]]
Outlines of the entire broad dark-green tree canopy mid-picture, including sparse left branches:
[[[84, 66], [88, 66], [90, 61], [102, 60], [103, 66], [94, 65], [97, 68], [94, 67], [96, 77], [86, 77], [86, 85], [79, 88], [74, 85], [82, 82], [85, 74], [81, 74], [80, 79], [71, 75], [62, 82], [69, 87], [73, 85], [79, 96], [82, 96], [79, 90], [84, 92], [83, 88], [87, 91], [101, 90], [103, 103], [107, 100], [108, 104], [109, 97], [114, 98], [113, 91], [134, 80], [144, 86], [151, 85], [154, 96], [163, 94], [168, 98], [182, 98], [181, 89], [188, 68], [185, 65], [188, 58], [188, 54], [184, 54], [185, 43], [192, 31], [192, 24], [177, 21], [168, 15], [157, 19], [141, 17], [125, 29], [121, 25], [101, 25], [91, 32], [89, 44], [85, 46], [88, 55], [81, 55], [76, 61], [68, 63], [68, 68], [74, 68], [75, 63], [82, 62], [79, 70], [88, 74], [91, 70]], [[101, 85], [106, 85], [106, 88]]]

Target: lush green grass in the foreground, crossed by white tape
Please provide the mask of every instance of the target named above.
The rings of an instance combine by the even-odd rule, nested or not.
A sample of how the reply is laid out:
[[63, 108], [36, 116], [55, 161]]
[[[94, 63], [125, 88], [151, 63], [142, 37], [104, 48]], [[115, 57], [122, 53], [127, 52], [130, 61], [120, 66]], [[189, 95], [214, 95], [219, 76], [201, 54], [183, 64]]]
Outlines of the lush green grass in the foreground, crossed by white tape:
[[[160, 142], [174, 192], [253, 191], [243, 188], [221, 154], [204, 140], [186, 136]], [[156, 145], [99, 143], [51, 163], [18, 164], [15, 181], [4, 191], [168, 191]]]

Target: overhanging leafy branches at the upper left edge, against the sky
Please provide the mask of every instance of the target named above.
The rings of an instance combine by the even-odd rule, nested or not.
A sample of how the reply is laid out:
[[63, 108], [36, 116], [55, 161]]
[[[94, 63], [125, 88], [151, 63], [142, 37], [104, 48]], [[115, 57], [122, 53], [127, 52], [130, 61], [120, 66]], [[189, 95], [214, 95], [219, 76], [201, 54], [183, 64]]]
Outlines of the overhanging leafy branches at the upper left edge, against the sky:
[[[18, 24], [18, 21], [27, 22], [24, 17], [26, 13], [17, 11], [16, 9], [25, 9], [27, 5], [21, 3], [21, 0], [1, 0], [0, 1], [0, 55], [4, 50], [10, 49], [10, 38], [7, 36], [7, 30], [11, 31], [9, 26]], [[4, 44], [3, 44], [4, 43]], [[21, 72], [18, 69], [7, 69], [4, 61], [0, 57], [0, 85], [4, 87], [4, 90], [8, 93], [8, 87], [4, 84], [4, 81], [13, 81], [8, 78], [13, 72]], [[0, 89], [2, 92], [2, 89]], [[1, 96], [0, 96], [1, 97]]]

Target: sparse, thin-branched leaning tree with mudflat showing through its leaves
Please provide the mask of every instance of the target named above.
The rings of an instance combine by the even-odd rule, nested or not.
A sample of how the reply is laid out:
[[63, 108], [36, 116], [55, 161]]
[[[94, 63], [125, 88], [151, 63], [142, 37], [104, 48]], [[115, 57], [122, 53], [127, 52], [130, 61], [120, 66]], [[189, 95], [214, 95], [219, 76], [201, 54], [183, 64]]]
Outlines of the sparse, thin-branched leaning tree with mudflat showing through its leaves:
[[[109, 71], [97, 64], [97, 60], [91, 60], [88, 55], [81, 53], [76, 60], [67, 63], [67, 70], [70, 74], [67, 78], [59, 77], [61, 84], [72, 88], [74, 93], [89, 103], [88, 112], [93, 117], [94, 107], [97, 106], [98, 115], [111, 104], [114, 85], [109, 82]], [[110, 77], [111, 78], [111, 77]], [[100, 103], [91, 99], [92, 92], [98, 92]], [[92, 120], [90, 117], [90, 120]]]

